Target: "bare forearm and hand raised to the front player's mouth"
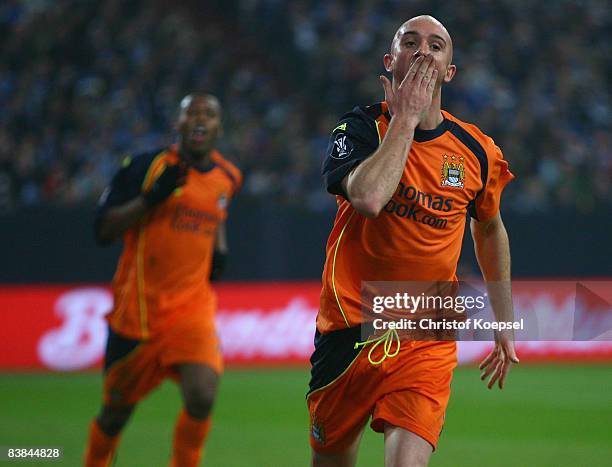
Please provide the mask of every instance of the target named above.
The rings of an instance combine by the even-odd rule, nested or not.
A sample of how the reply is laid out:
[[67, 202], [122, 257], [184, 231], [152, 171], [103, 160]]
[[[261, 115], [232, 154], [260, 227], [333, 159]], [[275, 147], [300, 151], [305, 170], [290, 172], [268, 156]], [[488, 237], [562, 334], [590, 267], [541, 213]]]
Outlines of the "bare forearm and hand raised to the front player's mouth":
[[349, 201], [360, 214], [378, 216], [396, 190], [414, 130], [431, 106], [437, 75], [433, 57], [419, 55], [397, 89], [388, 78], [380, 77], [392, 112], [389, 129], [372, 157], [342, 180]]

